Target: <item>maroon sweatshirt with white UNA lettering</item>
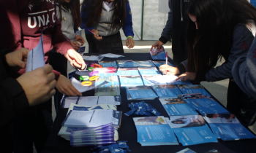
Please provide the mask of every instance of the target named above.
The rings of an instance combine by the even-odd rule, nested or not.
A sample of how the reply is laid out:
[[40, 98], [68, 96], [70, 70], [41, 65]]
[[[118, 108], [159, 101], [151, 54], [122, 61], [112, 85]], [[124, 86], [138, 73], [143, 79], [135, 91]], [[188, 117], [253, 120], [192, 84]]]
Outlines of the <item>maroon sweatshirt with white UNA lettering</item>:
[[[32, 50], [37, 46], [42, 31], [45, 63], [48, 63], [49, 51], [53, 47], [66, 57], [67, 50], [73, 48], [61, 32], [54, 1], [41, 0], [39, 4], [30, 4], [29, 1], [0, 1], [0, 50], [15, 51], [21, 47]], [[25, 69], [18, 73], [25, 73]], [[53, 73], [56, 74], [56, 79], [59, 78], [58, 71], [53, 70]]]

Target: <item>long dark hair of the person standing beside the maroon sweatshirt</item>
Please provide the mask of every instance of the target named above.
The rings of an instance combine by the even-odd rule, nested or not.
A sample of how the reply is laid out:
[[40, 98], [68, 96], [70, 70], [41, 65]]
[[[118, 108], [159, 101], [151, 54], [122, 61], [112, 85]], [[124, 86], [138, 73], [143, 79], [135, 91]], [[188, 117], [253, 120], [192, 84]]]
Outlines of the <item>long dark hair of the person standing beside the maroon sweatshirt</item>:
[[[62, 20], [61, 6], [64, 4], [64, 1], [59, 0], [58, 2], [59, 2], [59, 21], [61, 21]], [[74, 27], [78, 28], [82, 23], [81, 17], [80, 17], [80, 1], [71, 0], [69, 3], [65, 4], [65, 6], [68, 7], [67, 9], [71, 10]]]

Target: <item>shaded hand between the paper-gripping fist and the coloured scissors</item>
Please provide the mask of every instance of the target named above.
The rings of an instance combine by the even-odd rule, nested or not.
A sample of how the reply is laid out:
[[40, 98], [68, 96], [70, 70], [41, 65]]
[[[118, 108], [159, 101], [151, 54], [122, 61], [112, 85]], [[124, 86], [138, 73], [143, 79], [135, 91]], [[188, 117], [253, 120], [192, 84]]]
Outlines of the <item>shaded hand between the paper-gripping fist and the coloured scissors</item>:
[[67, 77], [60, 75], [59, 79], [57, 80], [57, 89], [59, 92], [65, 95], [80, 95], [82, 96], [82, 93], [80, 93], [75, 87], [72, 85], [69, 79]]

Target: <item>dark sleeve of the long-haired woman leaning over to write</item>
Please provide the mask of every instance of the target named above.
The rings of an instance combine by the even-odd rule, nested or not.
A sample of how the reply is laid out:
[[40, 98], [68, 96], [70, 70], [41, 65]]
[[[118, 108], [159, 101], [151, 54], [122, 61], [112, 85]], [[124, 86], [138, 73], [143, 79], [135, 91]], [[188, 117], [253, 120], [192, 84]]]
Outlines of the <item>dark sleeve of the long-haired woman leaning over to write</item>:
[[233, 31], [233, 44], [226, 62], [216, 68], [211, 68], [206, 74], [206, 81], [214, 82], [232, 78], [231, 69], [236, 59], [246, 56], [254, 36], [244, 24], [238, 24]]

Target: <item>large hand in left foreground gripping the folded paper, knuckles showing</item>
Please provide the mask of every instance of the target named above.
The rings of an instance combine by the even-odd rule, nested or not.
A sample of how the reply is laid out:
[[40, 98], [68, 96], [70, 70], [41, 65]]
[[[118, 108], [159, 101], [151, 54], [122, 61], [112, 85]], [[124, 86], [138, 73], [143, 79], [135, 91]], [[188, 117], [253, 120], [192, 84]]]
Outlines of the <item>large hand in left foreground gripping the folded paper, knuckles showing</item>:
[[48, 101], [56, 93], [56, 80], [52, 70], [52, 66], [46, 65], [17, 78], [28, 98], [29, 106]]

